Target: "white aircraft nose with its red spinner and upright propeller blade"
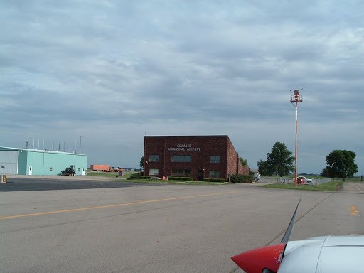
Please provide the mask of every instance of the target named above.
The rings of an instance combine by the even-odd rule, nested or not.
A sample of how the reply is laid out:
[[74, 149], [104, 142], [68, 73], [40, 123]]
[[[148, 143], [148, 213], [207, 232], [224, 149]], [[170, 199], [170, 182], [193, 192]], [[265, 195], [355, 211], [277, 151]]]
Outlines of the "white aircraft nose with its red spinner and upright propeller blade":
[[364, 272], [363, 235], [289, 241], [298, 206], [280, 244], [242, 252], [232, 261], [247, 273]]

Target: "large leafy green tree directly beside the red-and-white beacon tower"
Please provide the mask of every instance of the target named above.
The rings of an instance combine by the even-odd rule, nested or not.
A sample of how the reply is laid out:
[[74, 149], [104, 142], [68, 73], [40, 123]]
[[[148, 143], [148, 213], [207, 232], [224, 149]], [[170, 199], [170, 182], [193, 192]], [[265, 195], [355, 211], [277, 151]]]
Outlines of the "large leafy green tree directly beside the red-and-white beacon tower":
[[262, 176], [287, 176], [294, 171], [294, 156], [288, 151], [286, 145], [276, 142], [272, 151], [267, 154], [266, 161], [258, 161], [258, 171]]

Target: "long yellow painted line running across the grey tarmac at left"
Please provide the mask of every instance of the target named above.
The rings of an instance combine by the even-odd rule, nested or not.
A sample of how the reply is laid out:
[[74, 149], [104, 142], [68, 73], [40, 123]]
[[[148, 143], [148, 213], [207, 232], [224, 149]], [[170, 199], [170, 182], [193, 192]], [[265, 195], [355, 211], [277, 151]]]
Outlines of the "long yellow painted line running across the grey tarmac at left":
[[197, 197], [205, 197], [205, 196], [221, 196], [223, 194], [228, 194], [228, 193], [233, 193], [233, 191], [225, 191], [223, 193], [200, 194], [200, 195], [197, 195], [197, 196], [180, 196], [180, 197], [172, 197], [172, 198], [164, 198], [164, 199], [156, 199], [156, 200], [145, 200], [145, 201], [137, 201], [137, 202], [131, 202], [131, 203], [119, 203], [119, 204], [112, 204], [112, 205], [98, 205], [98, 206], [86, 207], [86, 208], [71, 208], [69, 210], [45, 211], [43, 213], [28, 213], [28, 214], [21, 214], [21, 215], [1, 216], [0, 220], [22, 218], [22, 217], [31, 217], [31, 216], [38, 216], [38, 215], [48, 215], [48, 214], [56, 214], [56, 213], [71, 213], [73, 211], [82, 211], [82, 210], [97, 210], [97, 209], [100, 209], [100, 208], [121, 207], [123, 205], [138, 205], [138, 204], [146, 204], [146, 203], [157, 203], [157, 202], [164, 202], [164, 201], [171, 201], [171, 200], [181, 200], [181, 199], [197, 198]]

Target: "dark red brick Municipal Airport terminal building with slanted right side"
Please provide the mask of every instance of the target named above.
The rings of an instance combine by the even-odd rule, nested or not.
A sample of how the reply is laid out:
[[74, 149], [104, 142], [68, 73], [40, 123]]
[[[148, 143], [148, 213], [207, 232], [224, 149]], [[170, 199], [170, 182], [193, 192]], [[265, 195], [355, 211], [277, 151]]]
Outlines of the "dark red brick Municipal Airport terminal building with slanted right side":
[[228, 136], [146, 136], [145, 176], [190, 176], [193, 180], [249, 174]]

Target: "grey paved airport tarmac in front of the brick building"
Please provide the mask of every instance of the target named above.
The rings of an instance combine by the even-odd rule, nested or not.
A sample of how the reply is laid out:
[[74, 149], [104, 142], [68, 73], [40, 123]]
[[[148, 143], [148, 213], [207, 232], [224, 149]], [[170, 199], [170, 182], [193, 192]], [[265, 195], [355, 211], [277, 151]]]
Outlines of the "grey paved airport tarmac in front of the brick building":
[[[230, 257], [279, 242], [300, 197], [291, 240], [364, 233], [360, 193], [85, 178], [1, 185], [43, 191], [0, 192], [0, 272], [242, 272]], [[48, 183], [91, 188], [44, 191]], [[121, 187], [104, 188], [112, 183]]]

